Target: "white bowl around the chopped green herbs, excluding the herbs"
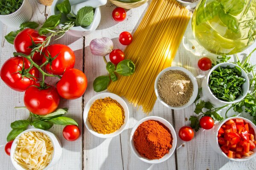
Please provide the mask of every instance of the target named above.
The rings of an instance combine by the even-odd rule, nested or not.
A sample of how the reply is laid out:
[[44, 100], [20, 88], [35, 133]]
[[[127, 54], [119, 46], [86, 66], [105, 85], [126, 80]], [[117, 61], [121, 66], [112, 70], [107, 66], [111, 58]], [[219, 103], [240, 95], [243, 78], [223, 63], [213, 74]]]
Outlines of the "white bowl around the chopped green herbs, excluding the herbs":
[[230, 66], [231, 68], [237, 66], [236, 64], [230, 63], [230, 62], [223, 62], [223, 63], [219, 63], [217, 65], [215, 65], [207, 74], [206, 77], [204, 77], [203, 81], [202, 81], [202, 93], [204, 96], [204, 99], [208, 100], [209, 102], [211, 102], [215, 107], [221, 107], [224, 105], [230, 105], [230, 104], [234, 104], [237, 102], [240, 102], [242, 99], [244, 99], [244, 97], [247, 95], [248, 91], [249, 91], [249, 86], [250, 86], [250, 80], [247, 76], [247, 74], [244, 72], [244, 70], [239, 67], [241, 69], [242, 72], [242, 77], [245, 78], [245, 83], [242, 86], [242, 90], [243, 90], [243, 95], [240, 95], [236, 100], [234, 100], [233, 102], [226, 102], [223, 100], [218, 99], [217, 97], [215, 97], [212, 94], [211, 89], [209, 88], [209, 77], [212, 74], [212, 71], [214, 71], [216, 68], [218, 67], [227, 67]]

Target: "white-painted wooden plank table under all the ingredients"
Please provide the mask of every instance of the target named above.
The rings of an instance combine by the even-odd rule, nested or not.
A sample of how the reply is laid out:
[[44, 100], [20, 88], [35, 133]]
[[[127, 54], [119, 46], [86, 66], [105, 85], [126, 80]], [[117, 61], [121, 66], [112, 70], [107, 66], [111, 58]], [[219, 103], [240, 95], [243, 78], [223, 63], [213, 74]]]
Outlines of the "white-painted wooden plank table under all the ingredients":
[[[150, 2], [150, 1], [149, 1]], [[61, 43], [68, 45], [75, 51], [76, 65], [75, 68], [84, 70], [87, 75], [88, 87], [83, 97], [76, 100], [61, 100], [60, 108], [68, 107], [70, 116], [79, 123], [82, 135], [75, 142], [68, 142], [62, 136], [63, 126], [53, 126], [49, 131], [55, 133], [61, 140], [63, 146], [63, 153], [61, 159], [55, 164], [51, 170], [255, 170], [256, 159], [244, 163], [236, 163], [228, 161], [224, 157], [218, 155], [212, 150], [209, 144], [207, 131], [200, 130], [196, 133], [195, 138], [186, 142], [184, 147], [176, 150], [175, 154], [167, 161], [161, 164], [147, 164], [139, 159], [132, 153], [129, 136], [132, 127], [142, 118], [146, 116], [160, 116], [168, 120], [174, 127], [176, 132], [180, 127], [189, 125], [189, 121], [185, 121], [193, 114], [195, 106], [192, 105], [181, 111], [172, 111], [160, 102], [156, 102], [154, 109], [151, 113], [146, 115], [141, 109], [137, 110], [132, 105], [129, 106], [130, 118], [129, 125], [119, 136], [112, 139], [100, 139], [90, 134], [83, 123], [83, 108], [87, 101], [93, 97], [96, 92], [93, 91], [93, 80], [103, 74], [106, 74], [105, 63], [101, 57], [93, 56], [90, 53], [89, 43], [94, 38], [110, 37], [115, 48], [124, 49], [125, 46], [120, 45], [118, 36], [122, 31], [133, 32], [136, 30], [140, 21], [145, 14], [148, 3], [140, 6], [139, 8], [127, 11], [127, 18], [121, 23], [116, 23], [111, 13], [115, 8], [114, 5], [108, 3], [102, 7], [102, 20], [97, 30], [85, 38], [71, 37], [65, 35], [60, 40], [54, 43]], [[43, 6], [37, 0], [30, 0], [33, 8], [32, 21], [42, 24], [47, 16], [50, 15], [50, 7]], [[0, 66], [10, 57], [15, 51], [13, 45], [6, 42], [4, 36], [10, 31], [15, 31], [17, 28], [11, 28], [0, 24]], [[195, 40], [192, 38], [191, 24], [189, 24], [181, 43], [179, 50], [176, 54], [175, 60], [172, 65], [183, 66], [197, 76], [204, 74], [198, 70], [197, 61], [200, 56], [196, 56], [196, 50], [200, 46], [196, 45]], [[190, 44], [188, 41], [192, 41]], [[195, 50], [192, 50], [192, 45], [195, 45]], [[256, 43], [243, 53], [248, 54], [252, 49], [256, 48]], [[200, 50], [199, 50], [200, 51]], [[205, 55], [215, 59], [216, 56], [208, 54]], [[240, 56], [240, 55], [239, 55]], [[256, 54], [251, 57], [256, 63]], [[48, 79], [49, 83], [54, 84], [56, 79]], [[198, 79], [199, 84], [201, 80]], [[25, 109], [15, 109], [16, 106], [24, 106], [23, 93], [19, 93], [8, 88], [3, 81], [0, 81], [0, 169], [1, 170], [14, 170], [10, 157], [4, 153], [4, 145], [6, 144], [6, 136], [11, 130], [10, 123], [18, 119], [26, 119], [28, 111]], [[183, 142], [177, 139], [177, 146]]]

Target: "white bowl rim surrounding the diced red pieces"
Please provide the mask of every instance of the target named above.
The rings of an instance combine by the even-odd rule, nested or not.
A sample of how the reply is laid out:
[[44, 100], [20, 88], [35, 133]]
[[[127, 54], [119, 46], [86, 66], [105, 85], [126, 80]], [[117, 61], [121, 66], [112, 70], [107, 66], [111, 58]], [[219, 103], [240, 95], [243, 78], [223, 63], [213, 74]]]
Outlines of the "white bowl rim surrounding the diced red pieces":
[[[235, 116], [235, 117], [230, 117], [227, 118], [225, 120], [223, 120], [223, 122], [221, 122], [220, 125], [218, 125], [218, 129], [217, 129], [217, 134], [216, 134], [216, 138], [215, 138], [215, 142], [217, 142], [218, 148], [221, 151], [222, 155], [224, 155], [227, 159], [230, 159], [232, 161], [248, 161], [249, 159], [252, 159], [254, 156], [256, 156], [256, 152], [254, 152], [252, 155], [250, 155], [249, 157], [245, 157], [245, 158], [230, 158], [228, 157], [222, 150], [220, 145], [218, 144], [218, 131], [220, 130], [221, 126], [224, 125], [224, 123], [226, 123], [227, 121], [229, 121], [230, 119], [243, 119], [245, 122], [249, 123], [251, 127], [253, 127], [254, 130], [256, 130], [256, 125], [253, 124], [253, 122], [251, 122], [250, 120], [244, 118], [244, 117], [240, 117], [240, 116]], [[254, 138], [255, 138], [255, 134], [254, 134]], [[254, 149], [256, 150], [256, 148]]]

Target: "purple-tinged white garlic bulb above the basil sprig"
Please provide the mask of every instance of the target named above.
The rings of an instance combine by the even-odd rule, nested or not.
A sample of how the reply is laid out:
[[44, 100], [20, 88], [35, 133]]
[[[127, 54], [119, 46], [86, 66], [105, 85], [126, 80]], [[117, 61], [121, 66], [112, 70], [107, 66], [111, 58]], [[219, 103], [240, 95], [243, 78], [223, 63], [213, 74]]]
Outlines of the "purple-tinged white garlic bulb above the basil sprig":
[[108, 37], [94, 39], [90, 42], [90, 50], [93, 55], [106, 56], [113, 51], [113, 41]]

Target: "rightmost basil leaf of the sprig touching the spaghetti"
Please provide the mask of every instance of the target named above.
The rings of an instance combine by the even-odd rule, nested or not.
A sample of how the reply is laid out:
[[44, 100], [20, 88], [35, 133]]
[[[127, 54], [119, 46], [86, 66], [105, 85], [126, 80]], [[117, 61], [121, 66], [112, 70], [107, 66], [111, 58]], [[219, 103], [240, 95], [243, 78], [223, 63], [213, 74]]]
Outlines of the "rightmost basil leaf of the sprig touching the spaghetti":
[[129, 59], [125, 59], [116, 65], [115, 72], [118, 74], [121, 74], [122, 76], [130, 76], [134, 74], [134, 71], [135, 71], [134, 63]]

